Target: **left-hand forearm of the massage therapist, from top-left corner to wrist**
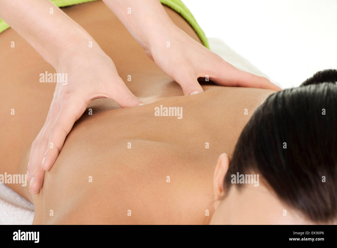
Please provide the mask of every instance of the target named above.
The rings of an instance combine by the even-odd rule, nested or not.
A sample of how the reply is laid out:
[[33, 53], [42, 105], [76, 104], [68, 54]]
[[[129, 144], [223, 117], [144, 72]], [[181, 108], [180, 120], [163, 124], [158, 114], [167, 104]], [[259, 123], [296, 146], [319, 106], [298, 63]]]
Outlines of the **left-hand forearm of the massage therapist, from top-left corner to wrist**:
[[2, 0], [0, 17], [56, 70], [80, 48], [88, 48], [89, 41], [95, 43], [50, 0]]

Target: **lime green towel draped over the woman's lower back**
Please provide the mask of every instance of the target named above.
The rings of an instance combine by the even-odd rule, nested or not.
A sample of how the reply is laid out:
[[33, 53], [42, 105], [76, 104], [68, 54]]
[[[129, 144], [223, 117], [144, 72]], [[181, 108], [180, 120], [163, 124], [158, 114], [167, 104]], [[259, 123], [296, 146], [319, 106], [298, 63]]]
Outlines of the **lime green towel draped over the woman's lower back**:
[[[85, 2], [92, 2], [96, 0], [51, 0], [51, 1], [57, 7], [65, 7], [69, 5], [85, 3]], [[181, 0], [159, 0], [159, 1], [162, 4], [176, 11], [178, 14], [180, 14], [189, 23], [189, 25], [191, 25], [191, 27], [194, 29], [196, 34], [199, 36], [200, 40], [203, 42], [204, 46], [209, 48], [208, 41], [207, 41], [204, 31], [197, 24], [192, 13], [189, 11], [189, 9], [185, 6], [185, 4]], [[7, 23], [5, 23], [4, 21], [0, 19], [0, 33], [6, 30], [7, 28], [9, 28]]]

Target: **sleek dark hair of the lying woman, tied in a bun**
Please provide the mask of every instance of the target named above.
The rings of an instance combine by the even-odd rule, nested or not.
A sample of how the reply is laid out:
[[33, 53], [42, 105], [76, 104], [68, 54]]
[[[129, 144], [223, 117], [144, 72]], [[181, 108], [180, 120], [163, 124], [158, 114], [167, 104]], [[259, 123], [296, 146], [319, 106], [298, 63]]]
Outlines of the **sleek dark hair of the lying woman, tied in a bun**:
[[313, 222], [335, 220], [336, 81], [337, 70], [319, 71], [298, 88], [270, 95], [239, 137], [225, 190], [231, 175], [258, 173], [284, 203]]

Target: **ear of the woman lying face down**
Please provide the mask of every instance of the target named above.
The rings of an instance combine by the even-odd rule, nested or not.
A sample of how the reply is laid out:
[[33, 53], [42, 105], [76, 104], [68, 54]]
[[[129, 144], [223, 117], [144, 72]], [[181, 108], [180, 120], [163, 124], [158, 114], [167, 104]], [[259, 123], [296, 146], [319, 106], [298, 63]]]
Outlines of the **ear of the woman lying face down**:
[[223, 192], [223, 180], [229, 167], [229, 156], [226, 153], [220, 154], [218, 162], [216, 163], [213, 176], [214, 200], [216, 200], [215, 207], [218, 205], [218, 199]]

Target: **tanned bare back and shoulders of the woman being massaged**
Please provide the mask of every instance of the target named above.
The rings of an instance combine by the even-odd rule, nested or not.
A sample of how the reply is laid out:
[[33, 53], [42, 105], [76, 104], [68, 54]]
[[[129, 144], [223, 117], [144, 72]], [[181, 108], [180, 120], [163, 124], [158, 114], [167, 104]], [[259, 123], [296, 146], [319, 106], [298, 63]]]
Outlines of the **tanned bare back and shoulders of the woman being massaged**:
[[[165, 10], [200, 42], [176, 12]], [[145, 55], [102, 2], [63, 11], [113, 59], [127, 87], [146, 105], [120, 109], [110, 99], [94, 100], [46, 172], [39, 194], [29, 194], [28, 186], [7, 186], [34, 203], [34, 224], [208, 223], [213, 214], [214, 164], [222, 152], [232, 155], [242, 128], [273, 91], [203, 83], [205, 92], [183, 96], [181, 87]], [[10, 48], [11, 40], [15, 48]], [[26, 174], [31, 142], [45, 121], [55, 89], [53, 83], [40, 83], [39, 74], [55, 71], [12, 29], [1, 33], [0, 53], [6, 61], [0, 67], [0, 114], [5, 117], [0, 120], [0, 174]], [[132, 75], [131, 82], [127, 75]], [[155, 117], [154, 108], [160, 104], [183, 107], [183, 118]], [[93, 115], [88, 115], [90, 108]]]

